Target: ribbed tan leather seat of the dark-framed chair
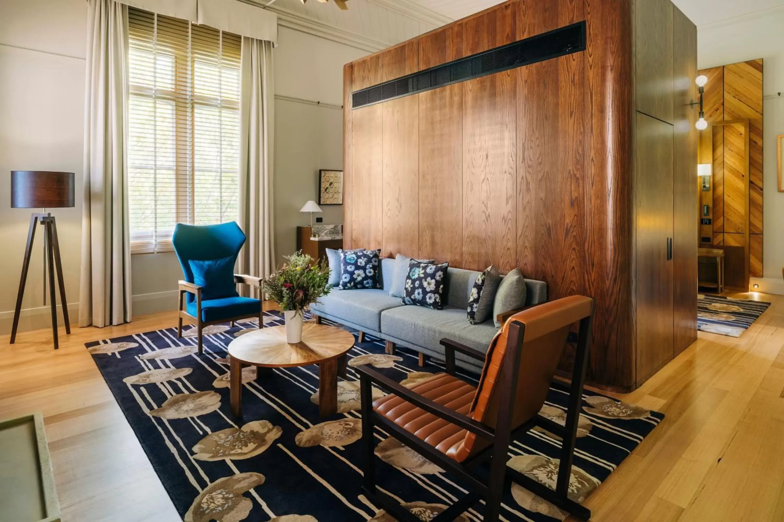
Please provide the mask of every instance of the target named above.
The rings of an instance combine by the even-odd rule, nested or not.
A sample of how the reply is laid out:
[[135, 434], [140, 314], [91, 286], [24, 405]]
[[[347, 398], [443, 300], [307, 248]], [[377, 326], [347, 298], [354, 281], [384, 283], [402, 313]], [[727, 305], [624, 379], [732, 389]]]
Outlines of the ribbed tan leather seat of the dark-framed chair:
[[[411, 390], [463, 415], [470, 412], [477, 392], [476, 387], [448, 373], [438, 373], [418, 383]], [[465, 460], [469, 454], [462, 451], [466, 430], [412, 405], [395, 394], [373, 401], [373, 410], [458, 462]]]

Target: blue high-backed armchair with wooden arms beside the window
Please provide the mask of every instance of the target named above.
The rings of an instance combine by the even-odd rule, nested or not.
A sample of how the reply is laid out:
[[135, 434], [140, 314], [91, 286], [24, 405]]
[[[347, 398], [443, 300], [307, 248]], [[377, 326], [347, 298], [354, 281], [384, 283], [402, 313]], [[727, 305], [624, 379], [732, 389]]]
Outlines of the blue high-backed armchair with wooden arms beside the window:
[[234, 274], [234, 263], [243, 244], [245, 234], [234, 221], [220, 225], [180, 224], [174, 229], [172, 245], [185, 278], [179, 282], [177, 337], [182, 337], [183, 319], [191, 319], [196, 323], [200, 354], [205, 326], [258, 317], [259, 327], [263, 327], [261, 301], [241, 297], [237, 292], [238, 283], [262, 286], [258, 277]]

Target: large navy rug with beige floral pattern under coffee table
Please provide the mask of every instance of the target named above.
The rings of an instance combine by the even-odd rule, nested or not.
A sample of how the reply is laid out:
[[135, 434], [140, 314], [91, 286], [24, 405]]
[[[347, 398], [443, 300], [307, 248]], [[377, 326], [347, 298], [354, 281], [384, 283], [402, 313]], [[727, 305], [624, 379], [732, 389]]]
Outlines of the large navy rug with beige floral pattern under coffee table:
[[[282, 324], [268, 312], [264, 326]], [[256, 329], [254, 322], [209, 326], [204, 355], [194, 330], [177, 339], [160, 329], [88, 343], [117, 399], [183, 520], [275, 522], [392, 522], [361, 495], [361, 424], [358, 374], [352, 364], [368, 359], [379, 371], [409, 384], [444, 371], [416, 365], [416, 352], [384, 355], [383, 342], [365, 337], [349, 352], [348, 380], [339, 383], [339, 412], [318, 416], [318, 367], [275, 369], [256, 380], [244, 370], [243, 419], [229, 408], [227, 346]], [[354, 332], [356, 334], [356, 332]], [[356, 338], [356, 337], [355, 337]], [[351, 358], [354, 358], [353, 363]], [[476, 383], [477, 376], [462, 377]], [[381, 392], [377, 391], [380, 395]], [[568, 394], [550, 389], [543, 414], [564, 423]], [[582, 502], [664, 417], [659, 412], [586, 391], [570, 496]], [[433, 463], [376, 428], [379, 487], [422, 520], [430, 520], [462, 496], [463, 488]], [[554, 488], [561, 440], [532, 430], [510, 445], [510, 466]], [[482, 520], [478, 504], [456, 520]], [[565, 514], [512, 484], [502, 520], [544, 522]]]

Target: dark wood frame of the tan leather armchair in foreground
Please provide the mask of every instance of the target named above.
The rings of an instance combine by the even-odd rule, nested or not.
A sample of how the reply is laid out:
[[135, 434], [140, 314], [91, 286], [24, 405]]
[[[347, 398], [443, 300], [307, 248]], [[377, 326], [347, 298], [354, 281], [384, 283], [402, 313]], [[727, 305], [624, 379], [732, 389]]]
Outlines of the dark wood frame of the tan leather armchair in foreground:
[[[571, 513], [580, 520], [590, 519], [590, 510], [581, 506], [577, 502], [568, 498], [569, 478], [572, 473], [572, 461], [574, 459], [575, 441], [577, 439], [577, 420], [579, 419], [580, 405], [583, 400], [583, 387], [585, 384], [586, 369], [588, 366], [588, 345], [590, 342], [590, 332], [593, 325], [593, 308], [590, 316], [581, 319], [579, 322], [579, 333], [577, 337], [577, 349], [575, 352], [574, 369], [572, 383], [569, 389], [568, 409], [566, 414], [565, 426], [561, 426], [544, 416], [537, 415], [520, 427], [513, 429], [514, 400], [513, 391], [517, 388], [517, 373], [520, 368], [521, 347], [523, 344], [525, 325], [519, 321], [510, 323], [509, 335], [507, 338], [506, 355], [501, 369], [501, 379], [499, 383], [504, 383], [507, 393], [500, 396], [498, 419], [493, 430], [484, 423], [479, 423], [462, 415], [452, 409], [437, 404], [430, 399], [416, 394], [401, 384], [394, 382], [382, 373], [372, 369], [369, 365], [361, 365], [356, 369], [360, 373], [361, 389], [361, 412], [362, 412], [362, 455], [364, 466], [364, 486], [362, 490], [368, 498], [377, 502], [379, 506], [390, 513], [401, 522], [419, 522], [419, 519], [409, 513], [397, 501], [384, 494], [376, 488], [376, 463], [374, 450], [376, 447], [376, 437], [373, 435], [373, 427], [379, 426], [387, 430], [398, 441], [412, 448], [420, 455], [430, 459], [433, 463], [441, 466], [442, 469], [452, 473], [458, 481], [466, 485], [468, 493], [463, 498], [449, 506], [431, 522], [446, 522], [454, 520], [460, 513], [474, 506], [479, 499], [485, 499], [485, 522], [496, 522], [499, 520], [501, 500], [507, 482], [514, 481], [522, 487], [528, 489], [535, 495], [552, 503], [564, 511]], [[446, 371], [452, 376], [456, 376], [455, 352], [459, 351], [472, 358], [485, 360], [485, 354], [474, 348], [453, 340], [442, 339], [441, 344], [446, 352]], [[463, 463], [450, 459], [445, 453], [439, 452], [436, 448], [426, 444], [426, 442], [409, 433], [402, 427], [397, 426], [390, 419], [379, 415], [373, 411], [372, 407], [372, 385], [383, 388], [383, 390], [394, 393], [398, 397], [404, 398], [413, 405], [418, 406], [426, 412], [430, 412], [441, 419], [462, 427], [471, 433], [477, 434], [489, 441], [491, 444], [487, 448], [470, 456]], [[539, 426], [556, 434], [563, 439], [561, 448], [561, 465], [558, 469], [558, 477], [555, 491], [545, 485], [527, 477], [517, 470], [506, 466], [509, 459], [508, 448], [510, 441], [519, 434], [523, 434], [532, 427]], [[480, 463], [484, 463], [490, 458], [489, 479], [475, 474], [471, 468]]]

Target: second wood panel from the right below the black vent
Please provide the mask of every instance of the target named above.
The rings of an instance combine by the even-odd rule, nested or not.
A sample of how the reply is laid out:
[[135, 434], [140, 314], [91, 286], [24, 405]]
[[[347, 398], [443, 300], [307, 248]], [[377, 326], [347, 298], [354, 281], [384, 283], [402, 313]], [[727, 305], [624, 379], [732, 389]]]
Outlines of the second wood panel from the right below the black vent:
[[514, 71], [463, 82], [463, 267], [517, 265]]

